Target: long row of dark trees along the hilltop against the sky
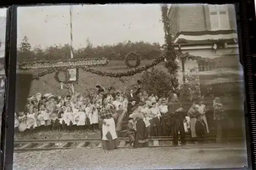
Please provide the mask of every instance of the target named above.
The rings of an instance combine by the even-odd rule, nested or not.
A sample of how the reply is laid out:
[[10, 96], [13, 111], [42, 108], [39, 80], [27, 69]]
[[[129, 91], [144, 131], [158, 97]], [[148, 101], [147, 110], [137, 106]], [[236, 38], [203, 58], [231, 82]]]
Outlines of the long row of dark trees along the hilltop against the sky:
[[[18, 61], [54, 61], [70, 59], [70, 50], [71, 47], [69, 44], [48, 46], [45, 49], [36, 46], [32, 49], [26, 37], [26, 39], [20, 43]], [[148, 43], [144, 41], [124, 41], [113, 45], [93, 46], [91, 41], [87, 39], [87, 45], [85, 47], [74, 50], [74, 59], [104, 57], [109, 60], [124, 60], [125, 56], [130, 52], [137, 53], [142, 60], [152, 60], [161, 55], [161, 47], [159, 43]]]

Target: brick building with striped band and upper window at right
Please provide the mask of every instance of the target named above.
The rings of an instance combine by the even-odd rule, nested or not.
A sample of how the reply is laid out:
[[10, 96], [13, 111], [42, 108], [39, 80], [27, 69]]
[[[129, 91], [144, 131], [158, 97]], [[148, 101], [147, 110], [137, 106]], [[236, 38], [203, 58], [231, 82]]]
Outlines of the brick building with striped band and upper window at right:
[[[244, 98], [241, 94], [244, 93], [244, 83], [234, 5], [175, 4], [170, 7], [168, 18], [171, 25], [169, 32], [173, 36], [177, 50], [213, 59], [211, 62], [180, 59], [180, 83], [184, 81], [184, 72], [190, 72], [199, 76], [201, 89], [203, 86], [214, 87], [212, 93], [221, 97], [225, 108], [229, 110], [228, 114], [232, 117], [227, 123], [232, 124], [231, 132], [240, 133], [241, 136], [241, 126], [244, 125], [241, 117]], [[208, 108], [210, 106], [212, 107], [212, 104], [208, 105]], [[234, 130], [236, 128], [240, 130]]]

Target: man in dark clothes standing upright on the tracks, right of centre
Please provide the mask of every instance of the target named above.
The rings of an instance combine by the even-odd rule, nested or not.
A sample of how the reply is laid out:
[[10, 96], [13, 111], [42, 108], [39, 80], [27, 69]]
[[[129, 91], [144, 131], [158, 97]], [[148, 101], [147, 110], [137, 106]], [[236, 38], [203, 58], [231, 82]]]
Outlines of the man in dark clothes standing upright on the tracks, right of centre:
[[176, 93], [170, 93], [168, 99], [168, 112], [170, 114], [170, 120], [172, 122], [172, 132], [173, 132], [173, 144], [178, 145], [178, 134], [180, 133], [181, 144], [185, 145], [185, 129], [184, 121], [186, 113], [183, 111], [182, 105], [178, 101], [178, 96]]

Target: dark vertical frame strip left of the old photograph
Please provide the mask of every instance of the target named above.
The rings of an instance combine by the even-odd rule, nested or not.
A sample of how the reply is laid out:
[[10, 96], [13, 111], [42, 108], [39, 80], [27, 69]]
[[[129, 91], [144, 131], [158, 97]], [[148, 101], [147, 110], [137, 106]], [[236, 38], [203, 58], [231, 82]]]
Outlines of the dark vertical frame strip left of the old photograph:
[[13, 142], [14, 142], [14, 112], [15, 112], [15, 85], [17, 60], [17, 6], [13, 5], [7, 12], [6, 26], [6, 94], [3, 109], [3, 124], [1, 133], [2, 169], [13, 169]]

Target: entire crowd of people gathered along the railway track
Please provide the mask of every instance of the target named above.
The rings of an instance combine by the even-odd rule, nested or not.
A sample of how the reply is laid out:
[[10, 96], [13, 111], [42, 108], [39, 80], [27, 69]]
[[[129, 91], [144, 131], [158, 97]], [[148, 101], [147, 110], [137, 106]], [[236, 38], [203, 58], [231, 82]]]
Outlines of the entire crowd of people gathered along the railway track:
[[[96, 86], [97, 87], [97, 86]], [[158, 98], [156, 94], [137, 89], [117, 92], [113, 87], [98, 86], [96, 93], [66, 96], [42, 95], [38, 92], [28, 99], [24, 112], [15, 113], [15, 129], [18, 131], [47, 130], [99, 130], [103, 147], [117, 148], [117, 138], [128, 119], [127, 136], [131, 147], [146, 147], [150, 136], [173, 135], [173, 144], [186, 144], [185, 132], [194, 139], [203, 139], [209, 133], [207, 108], [199, 96], [190, 109], [184, 110], [176, 93]], [[214, 118], [225, 119], [219, 98], [214, 102]]]

